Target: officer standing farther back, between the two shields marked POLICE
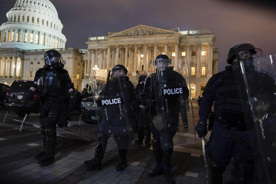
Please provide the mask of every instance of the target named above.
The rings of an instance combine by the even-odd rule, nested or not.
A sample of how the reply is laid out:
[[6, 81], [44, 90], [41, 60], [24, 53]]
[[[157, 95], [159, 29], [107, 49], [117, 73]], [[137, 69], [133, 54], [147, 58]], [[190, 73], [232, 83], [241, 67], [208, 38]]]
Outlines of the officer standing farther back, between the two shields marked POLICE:
[[[131, 104], [134, 108], [135, 129], [137, 129], [137, 134], [138, 134], [138, 145], [141, 145], [141, 143], [143, 143], [143, 139], [145, 136], [146, 147], [149, 147], [150, 146], [150, 120], [148, 117], [149, 109], [146, 106], [141, 104], [142, 103], [141, 94], [143, 94], [143, 91], [144, 91], [146, 78], [147, 78], [146, 74], [141, 74], [139, 76], [138, 78], [139, 83], [134, 89], [134, 96]], [[139, 118], [141, 119], [139, 120]]]

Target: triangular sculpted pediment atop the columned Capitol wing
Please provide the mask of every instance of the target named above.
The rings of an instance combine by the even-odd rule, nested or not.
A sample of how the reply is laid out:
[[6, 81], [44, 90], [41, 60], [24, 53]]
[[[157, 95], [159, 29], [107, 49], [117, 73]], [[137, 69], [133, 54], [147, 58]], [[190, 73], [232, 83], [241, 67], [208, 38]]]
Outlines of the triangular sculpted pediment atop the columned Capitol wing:
[[180, 34], [179, 32], [155, 28], [151, 26], [139, 25], [127, 30], [112, 34], [106, 38], [117, 38], [117, 37], [140, 37], [140, 36], [152, 36], [152, 35], [163, 35], [163, 34]]

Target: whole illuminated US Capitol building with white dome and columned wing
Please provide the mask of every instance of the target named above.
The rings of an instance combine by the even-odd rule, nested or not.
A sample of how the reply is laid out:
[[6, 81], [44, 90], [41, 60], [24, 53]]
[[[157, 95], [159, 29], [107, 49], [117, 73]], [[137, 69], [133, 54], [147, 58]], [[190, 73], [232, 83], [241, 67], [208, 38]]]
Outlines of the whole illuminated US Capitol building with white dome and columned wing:
[[185, 30], [138, 25], [106, 36], [89, 37], [87, 49], [66, 48], [66, 37], [57, 11], [49, 0], [17, 0], [0, 26], [0, 83], [33, 80], [44, 66], [43, 55], [49, 49], [62, 54], [78, 91], [89, 83], [92, 72], [101, 78], [116, 64], [128, 68], [130, 80], [137, 84], [136, 71], [151, 71], [151, 61], [159, 54], [171, 59], [187, 58], [191, 77], [191, 95], [197, 98], [212, 74], [217, 73], [220, 52], [213, 48], [211, 29]]

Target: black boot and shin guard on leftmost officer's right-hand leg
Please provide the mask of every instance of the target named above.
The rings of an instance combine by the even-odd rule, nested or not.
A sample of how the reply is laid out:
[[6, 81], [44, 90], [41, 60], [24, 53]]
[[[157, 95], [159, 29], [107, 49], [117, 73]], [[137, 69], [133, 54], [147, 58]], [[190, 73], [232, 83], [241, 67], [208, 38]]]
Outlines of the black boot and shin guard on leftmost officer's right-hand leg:
[[46, 128], [46, 149], [45, 156], [39, 159], [38, 164], [41, 166], [48, 166], [55, 162], [55, 143], [57, 141], [57, 132], [55, 129]]

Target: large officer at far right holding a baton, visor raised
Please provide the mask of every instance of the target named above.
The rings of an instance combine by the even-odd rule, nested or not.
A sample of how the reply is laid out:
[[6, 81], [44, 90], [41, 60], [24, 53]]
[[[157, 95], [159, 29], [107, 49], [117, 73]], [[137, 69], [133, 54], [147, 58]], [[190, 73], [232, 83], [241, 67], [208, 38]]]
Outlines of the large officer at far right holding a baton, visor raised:
[[209, 121], [212, 132], [206, 144], [212, 183], [223, 183], [223, 172], [232, 157], [235, 160], [236, 183], [252, 183], [256, 154], [252, 151], [250, 140], [254, 135], [244, 120], [242, 107], [247, 106], [248, 101], [246, 90], [242, 87], [244, 81], [241, 72], [234, 76], [233, 68], [239, 67], [238, 61], [244, 60], [245, 69], [253, 70], [252, 58], [261, 54], [262, 50], [252, 43], [232, 47], [227, 55], [227, 63], [231, 66], [214, 74], [203, 91], [196, 131], [198, 137], [207, 134], [206, 122], [214, 102], [214, 122]]

